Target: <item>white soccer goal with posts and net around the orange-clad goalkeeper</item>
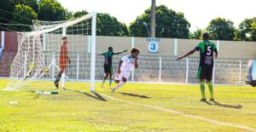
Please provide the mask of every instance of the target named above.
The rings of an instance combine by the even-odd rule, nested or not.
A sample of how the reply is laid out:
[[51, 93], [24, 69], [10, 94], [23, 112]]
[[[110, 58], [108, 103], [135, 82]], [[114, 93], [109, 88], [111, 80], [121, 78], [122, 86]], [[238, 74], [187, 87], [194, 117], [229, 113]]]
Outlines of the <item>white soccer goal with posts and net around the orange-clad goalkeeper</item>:
[[59, 87], [64, 88], [65, 82], [90, 81], [93, 91], [95, 43], [96, 13], [68, 21], [34, 20], [32, 32], [18, 32], [18, 52], [6, 89], [52, 89], [61, 75]]

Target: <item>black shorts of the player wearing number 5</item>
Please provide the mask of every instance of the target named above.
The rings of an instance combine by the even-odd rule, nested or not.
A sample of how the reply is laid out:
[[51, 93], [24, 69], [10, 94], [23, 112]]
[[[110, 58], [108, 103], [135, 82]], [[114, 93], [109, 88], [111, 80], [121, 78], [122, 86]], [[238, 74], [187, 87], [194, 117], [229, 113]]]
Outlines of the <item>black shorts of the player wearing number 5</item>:
[[198, 72], [197, 72], [197, 78], [212, 80], [212, 69], [213, 67], [199, 66]]

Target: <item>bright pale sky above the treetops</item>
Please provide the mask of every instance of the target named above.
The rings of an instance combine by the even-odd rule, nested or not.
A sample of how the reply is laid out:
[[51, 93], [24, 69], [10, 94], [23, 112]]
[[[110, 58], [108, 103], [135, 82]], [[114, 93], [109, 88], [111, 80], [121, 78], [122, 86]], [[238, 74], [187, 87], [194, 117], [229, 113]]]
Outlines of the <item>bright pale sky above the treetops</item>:
[[[69, 11], [86, 10], [108, 13], [127, 26], [151, 6], [151, 0], [57, 0]], [[191, 24], [190, 30], [204, 29], [209, 22], [222, 17], [238, 26], [242, 20], [256, 17], [256, 0], [156, 0], [169, 9], [182, 12]]]

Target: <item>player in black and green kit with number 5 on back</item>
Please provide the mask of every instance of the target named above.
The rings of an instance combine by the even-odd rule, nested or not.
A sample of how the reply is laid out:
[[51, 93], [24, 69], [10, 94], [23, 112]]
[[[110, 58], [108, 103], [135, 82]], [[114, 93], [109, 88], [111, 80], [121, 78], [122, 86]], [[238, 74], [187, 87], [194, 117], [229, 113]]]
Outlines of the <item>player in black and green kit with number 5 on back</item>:
[[213, 52], [215, 57], [218, 57], [218, 50], [214, 43], [209, 41], [209, 33], [205, 32], [202, 34], [203, 42], [199, 43], [195, 49], [190, 50], [186, 55], [183, 55], [177, 60], [181, 60], [184, 57], [192, 55], [195, 51], [200, 51], [200, 64], [198, 68], [197, 78], [200, 79], [201, 88], [201, 101], [207, 101], [205, 95], [205, 80], [207, 80], [207, 85], [210, 92], [210, 100], [215, 102], [213, 98], [212, 89], [212, 69], [213, 69]]

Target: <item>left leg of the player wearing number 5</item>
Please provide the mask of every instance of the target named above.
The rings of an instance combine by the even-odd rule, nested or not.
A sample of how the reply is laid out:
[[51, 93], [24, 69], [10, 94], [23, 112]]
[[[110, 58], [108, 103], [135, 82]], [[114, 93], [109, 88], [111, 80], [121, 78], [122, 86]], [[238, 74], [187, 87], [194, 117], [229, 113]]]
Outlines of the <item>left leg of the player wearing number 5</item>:
[[206, 94], [205, 94], [205, 70], [201, 66], [198, 68], [197, 78], [200, 79], [201, 101], [206, 101]]

